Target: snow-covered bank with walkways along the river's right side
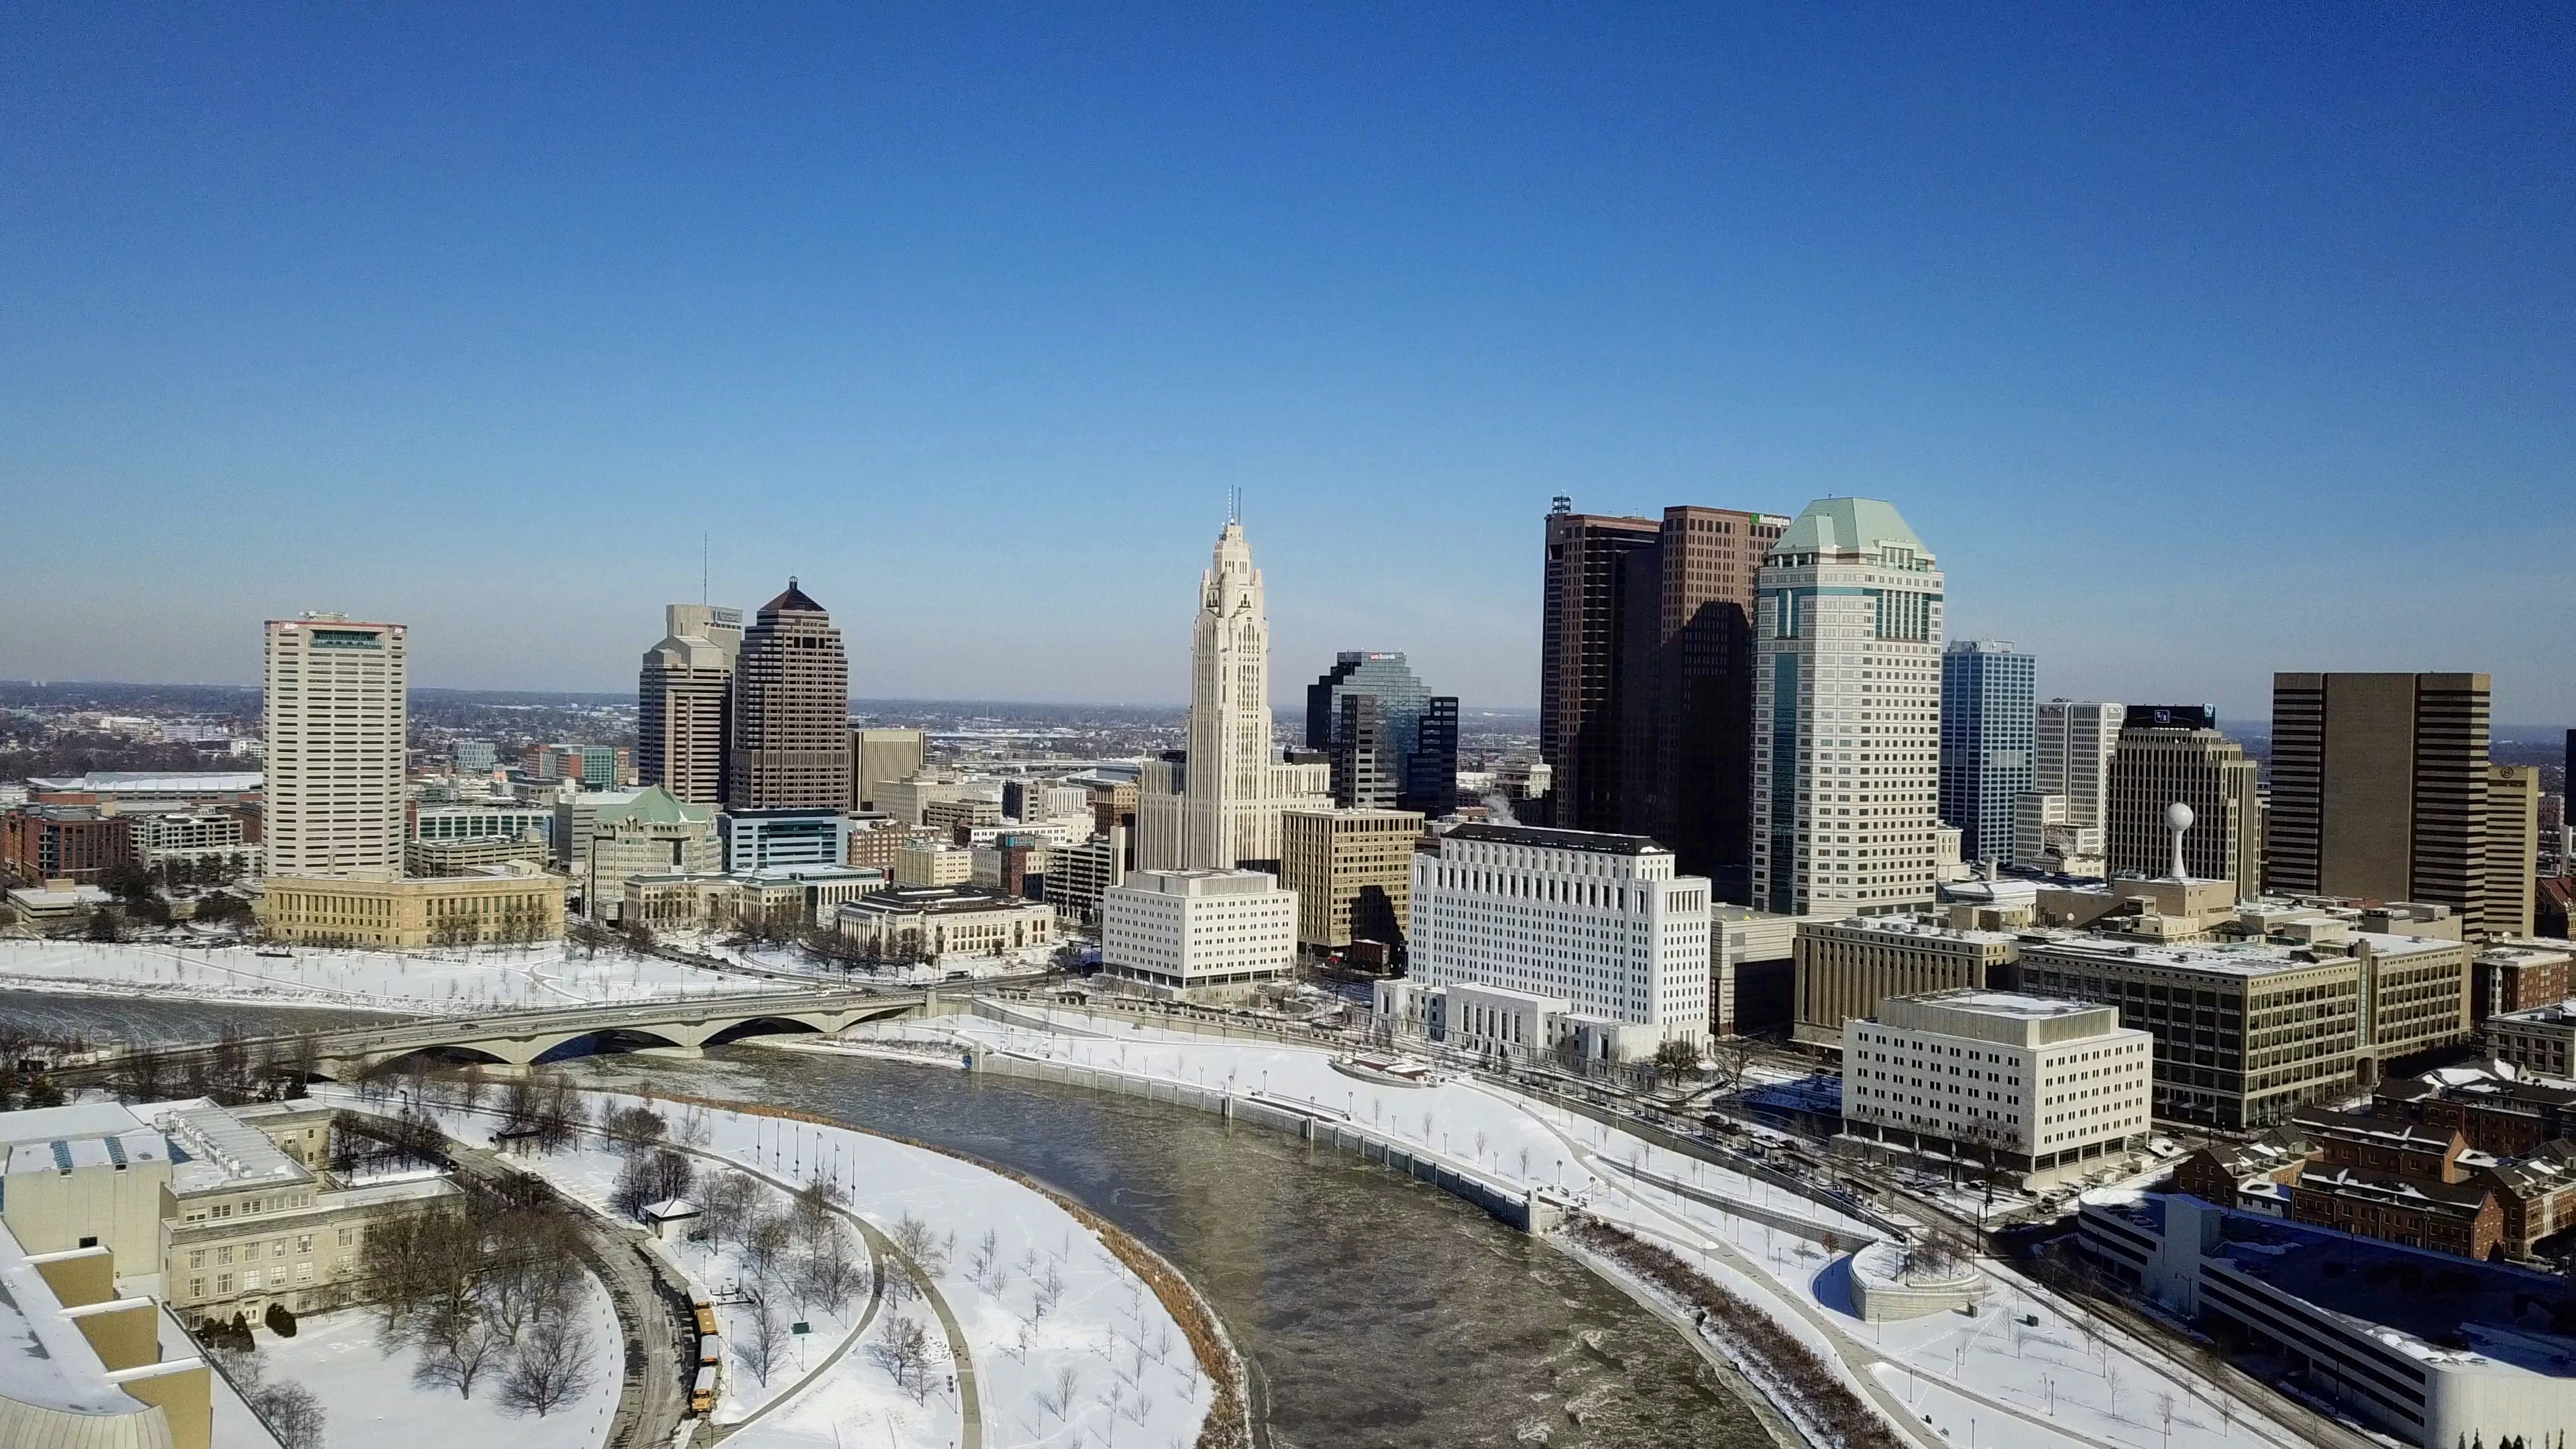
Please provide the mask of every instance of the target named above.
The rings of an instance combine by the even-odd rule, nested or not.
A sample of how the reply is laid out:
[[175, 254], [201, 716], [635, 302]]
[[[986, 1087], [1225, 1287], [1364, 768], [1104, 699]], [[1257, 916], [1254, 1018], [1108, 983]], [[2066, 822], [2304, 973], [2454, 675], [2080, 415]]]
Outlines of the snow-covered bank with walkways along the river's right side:
[[[1618, 1127], [1458, 1078], [1427, 1088], [1373, 1085], [1334, 1070], [1327, 1052], [1309, 1047], [1185, 1036], [1110, 1013], [1025, 1008], [1025, 1016], [1059, 1031], [940, 1016], [876, 1024], [853, 1036], [953, 1042], [1298, 1101], [1409, 1150], [1448, 1155], [1489, 1181], [1561, 1189], [1595, 1217], [1682, 1253], [1811, 1348], [1839, 1359], [1847, 1382], [1875, 1385], [1878, 1403], [1919, 1441], [2166, 1449], [2164, 1408], [2172, 1403], [2172, 1426], [2190, 1434], [2184, 1441], [2195, 1449], [2303, 1444], [2161, 1348], [2112, 1328], [2089, 1333], [2071, 1310], [1999, 1263], [1981, 1263], [1989, 1297], [1976, 1318], [1942, 1312], [1865, 1325], [1850, 1305], [1847, 1253], [1824, 1250], [1821, 1232], [1852, 1243], [1875, 1238], [1875, 1227]], [[1775, 1214], [1808, 1230], [1765, 1222]], [[2020, 1323], [2025, 1315], [2038, 1323]], [[1924, 1415], [1932, 1415], [1929, 1426]]]

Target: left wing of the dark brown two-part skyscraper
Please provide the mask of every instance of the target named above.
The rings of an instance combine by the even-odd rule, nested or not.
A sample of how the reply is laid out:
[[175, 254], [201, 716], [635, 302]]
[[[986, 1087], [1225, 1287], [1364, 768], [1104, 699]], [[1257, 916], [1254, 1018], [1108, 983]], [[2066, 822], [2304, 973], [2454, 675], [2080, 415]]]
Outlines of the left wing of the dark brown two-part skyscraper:
[[1538, 753], [1553, 768], [1551, 825], [1625, 828], [1631, 755], [1631, 673], [1638, 616], [1659, 606], [1651, 518], [1574, 513], [1558, 498], [1548, 513], [1543, 621], [1538, 639]]

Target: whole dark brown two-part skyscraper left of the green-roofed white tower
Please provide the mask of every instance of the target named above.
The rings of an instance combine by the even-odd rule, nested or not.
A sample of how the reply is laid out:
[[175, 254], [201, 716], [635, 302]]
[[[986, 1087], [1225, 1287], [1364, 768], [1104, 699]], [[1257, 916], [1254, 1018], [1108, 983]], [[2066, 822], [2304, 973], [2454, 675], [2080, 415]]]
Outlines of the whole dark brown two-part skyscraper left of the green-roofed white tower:
[[1556, 825], [1651, 835], [1741, 895], [1752, 784], [1754, 570], [1785, 518], [1548, 516], [1540, 753]]

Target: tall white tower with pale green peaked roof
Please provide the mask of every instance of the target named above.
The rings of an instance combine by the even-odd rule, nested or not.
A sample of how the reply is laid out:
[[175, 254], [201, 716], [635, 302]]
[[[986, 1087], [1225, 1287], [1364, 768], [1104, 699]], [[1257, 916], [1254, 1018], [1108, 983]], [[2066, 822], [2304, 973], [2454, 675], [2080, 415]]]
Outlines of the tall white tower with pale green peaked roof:
[[1942, 575], [1893, 503], [1819, 498], [1754, 575], [1749, 905], [1929, 902], [1940, 828]]

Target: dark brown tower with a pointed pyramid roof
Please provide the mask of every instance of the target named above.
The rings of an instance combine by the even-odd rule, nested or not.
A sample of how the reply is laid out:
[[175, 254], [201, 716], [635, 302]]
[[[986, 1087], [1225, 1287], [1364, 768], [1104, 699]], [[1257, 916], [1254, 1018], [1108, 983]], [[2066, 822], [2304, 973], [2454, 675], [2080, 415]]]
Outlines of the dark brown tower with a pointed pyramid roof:
[[793, 578], [742, 632], [724, 804], [850, 807], [850, 657], [832, 616]]

